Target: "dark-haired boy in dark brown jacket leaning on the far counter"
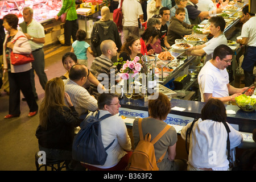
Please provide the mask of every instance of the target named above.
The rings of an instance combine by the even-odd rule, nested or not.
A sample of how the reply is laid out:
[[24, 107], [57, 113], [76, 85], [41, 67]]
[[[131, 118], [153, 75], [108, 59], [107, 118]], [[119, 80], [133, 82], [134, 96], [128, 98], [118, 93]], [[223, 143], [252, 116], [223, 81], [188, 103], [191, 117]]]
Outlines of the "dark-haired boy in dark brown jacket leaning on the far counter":
[[184, 35], [192, 34], [194, 24], [187, 24], [183, 22], [185, 19], [185, 9], [179, 7], [175, 16], [172, 16], [167, 32], [167, 42], [170, 45], [175, 43], [175, 39], [181, 39]]

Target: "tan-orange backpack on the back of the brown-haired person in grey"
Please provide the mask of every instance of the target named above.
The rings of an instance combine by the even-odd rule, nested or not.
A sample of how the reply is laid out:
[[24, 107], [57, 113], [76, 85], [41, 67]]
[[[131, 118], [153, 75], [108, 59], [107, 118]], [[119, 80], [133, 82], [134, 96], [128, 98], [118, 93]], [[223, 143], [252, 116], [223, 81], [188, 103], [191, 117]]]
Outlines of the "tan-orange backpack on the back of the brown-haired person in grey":
[[139, 143], [131, 155], [126, 171], [159, 171], [157, 163], [162, 162], [166, 152], [156, 162], [154, 144], [170, 129], [167, 125], [154, 139], [151, 140], [150, 133], [145, 135], [143, 139], [142, 118], [139, 119]]

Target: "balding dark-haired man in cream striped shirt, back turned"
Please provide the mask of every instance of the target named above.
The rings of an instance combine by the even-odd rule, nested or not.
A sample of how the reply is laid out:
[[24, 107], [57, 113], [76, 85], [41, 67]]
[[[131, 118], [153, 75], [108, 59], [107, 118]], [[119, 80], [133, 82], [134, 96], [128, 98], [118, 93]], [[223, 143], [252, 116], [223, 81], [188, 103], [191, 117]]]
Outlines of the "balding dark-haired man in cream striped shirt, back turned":
[[65, 92], [69, 94], [72, 104], [81, 119], [83, 119], [89, 111], [98, 109], [97, 100], [93, 96], [90, 96], [88, 91], [82, 86], [85, 84], [87, 76], [88, 71], [85, 65], [75, 64], [69, 71], [69, 78], [63, 80]]

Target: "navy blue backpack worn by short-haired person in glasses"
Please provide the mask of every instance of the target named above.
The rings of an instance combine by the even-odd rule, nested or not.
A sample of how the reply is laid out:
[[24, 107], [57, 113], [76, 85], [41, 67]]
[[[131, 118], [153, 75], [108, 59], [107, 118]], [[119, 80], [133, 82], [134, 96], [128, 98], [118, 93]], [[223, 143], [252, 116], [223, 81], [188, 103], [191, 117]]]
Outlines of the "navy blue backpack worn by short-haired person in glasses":
[[74, 160], [94, 165], [105, 164], [108, 156], [106, 150], [112, 146], [114, 140], [108, 147], [104, 148], [100, 121], [112, 116], [112, 114], [106, 114], [100, 119], [98, 118], [99, 115], [100, 111], [96, 111], [82, 121], [81, 130], [73, 140], [72, 157]]

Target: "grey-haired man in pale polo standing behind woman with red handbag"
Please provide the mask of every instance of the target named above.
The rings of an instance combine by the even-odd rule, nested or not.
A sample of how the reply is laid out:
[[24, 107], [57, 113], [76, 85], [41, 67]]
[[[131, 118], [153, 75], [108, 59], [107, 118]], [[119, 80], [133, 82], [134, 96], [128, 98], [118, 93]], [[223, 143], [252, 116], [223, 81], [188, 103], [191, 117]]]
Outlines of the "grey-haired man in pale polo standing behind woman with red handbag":
[[[41, 23], [38, 23], [35, 19], [33, 19], [33, 10], [30, 7], [24, 7], [23, 18], [24, 22], [20, 23], [19, 26], [22, 28], [22, 32], [26, 35], [32, 49], [32, 55], [34, 56], [30, 79], [34, 96], [36, 99], [38, 99], [38, 94], [36, 93], [35, 89], [34, 70], [38, 75], [40, 85], [43, 89], [45, 88], [47, 82], [47, 76], [44, 72], [44, 27]], [[22, 98], [22, 100], [24, 101], [25, 98]]]

